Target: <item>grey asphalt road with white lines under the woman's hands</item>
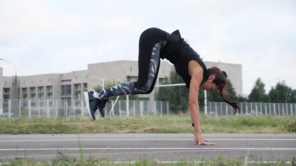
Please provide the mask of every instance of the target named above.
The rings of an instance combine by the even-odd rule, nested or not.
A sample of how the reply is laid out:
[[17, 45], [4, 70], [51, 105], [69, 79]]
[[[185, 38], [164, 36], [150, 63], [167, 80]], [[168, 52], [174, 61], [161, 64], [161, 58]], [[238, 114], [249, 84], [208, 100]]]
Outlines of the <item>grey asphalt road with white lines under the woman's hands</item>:
[[[291, 161], [296, 157], [296, 134], [203, 134], [214, 146], [196, 145], [193, 134], [28, 134], [0, 135], [0, 161], [15, 156], [55, 158], [57, 151], [79, 158], [83, 155], [111, 161], [132, 161], [146, 157], [158, 161], [208, 159], [218, 156], [248, 161]], [[79, 141], [80, 140], [80, 141]]]

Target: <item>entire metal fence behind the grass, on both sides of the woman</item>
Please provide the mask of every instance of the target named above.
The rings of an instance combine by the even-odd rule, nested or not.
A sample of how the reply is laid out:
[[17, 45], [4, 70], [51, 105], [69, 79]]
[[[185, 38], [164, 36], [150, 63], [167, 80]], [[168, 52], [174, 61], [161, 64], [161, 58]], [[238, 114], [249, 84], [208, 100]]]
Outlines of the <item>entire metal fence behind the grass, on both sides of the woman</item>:
[[[112, 109], [113, 106], [113, 109]], [[150, 108], [153, 106], [154, 108]], [[296, 103], [241, 102], [238, 114], [245, 116], [295, 116]], [[200, 108], [204, 112], [204, 107]], [[168, 101], [111, 100], [106, 104], [106, 116], [169, 116]], [[225, 102], [208, 102], [207, 115], [232, 115], [234, 109]], [[3, 100], [6, 117], [66, 117], [89, 116], [83, 100]]]

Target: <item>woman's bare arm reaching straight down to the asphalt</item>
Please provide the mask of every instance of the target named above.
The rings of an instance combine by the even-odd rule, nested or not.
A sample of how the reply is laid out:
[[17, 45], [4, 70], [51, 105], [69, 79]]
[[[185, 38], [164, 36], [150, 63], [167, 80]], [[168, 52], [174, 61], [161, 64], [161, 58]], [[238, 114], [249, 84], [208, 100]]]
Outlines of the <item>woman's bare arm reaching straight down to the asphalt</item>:
[[189, 87], [189, 111], [191, 120], [194, 124], [194, 137], [197, 140], [197, 144], [203, 145], [215, 145], [214, 143], [206, 142], [203, 140], [201, 123], [200, 123], [200, 110], [198, 105], [198, 93], [200, 84], [203, 81], [203, 68], [197, 62], [189, 62], [188, 65], [189, 74], [191, 75], [190, 87]]

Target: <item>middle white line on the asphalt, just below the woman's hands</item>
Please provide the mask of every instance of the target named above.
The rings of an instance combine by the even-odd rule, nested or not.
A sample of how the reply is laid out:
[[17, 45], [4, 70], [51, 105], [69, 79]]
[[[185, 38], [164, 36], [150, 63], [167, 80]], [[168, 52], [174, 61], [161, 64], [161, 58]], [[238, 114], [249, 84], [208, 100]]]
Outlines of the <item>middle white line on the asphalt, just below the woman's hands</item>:
[[[0, 151], [11, 150], [79, 150], [79, 148], [38, 148], [38, 149], [0, 149]], [[81, 148], [82, 150], [138, 150], [138, 149], [195, 149], [195, 150], [215, 150], [215, 149], [241, 149], [241, 150], [296, 150], [296, 148]]]

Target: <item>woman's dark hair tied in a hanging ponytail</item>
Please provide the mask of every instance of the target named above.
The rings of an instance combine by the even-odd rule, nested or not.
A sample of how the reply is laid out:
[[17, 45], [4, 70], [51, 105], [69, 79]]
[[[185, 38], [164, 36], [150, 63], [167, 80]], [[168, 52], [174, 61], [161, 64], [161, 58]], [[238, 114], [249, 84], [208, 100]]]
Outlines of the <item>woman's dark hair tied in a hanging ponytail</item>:
[[215, 75], [215, 79], [213, 80], [213, 83], [215, 83], [218, 87], [219, 87], [219, 94], [221, 96], [221, 98], [223, 99], [223, 101], [227, 102], [229, 105], [231, 105], [235, 112], [233, 115], [235, 115], [237, 113], [237, 111], [239, 110], [240, 111], [240, 102], [239, 101], [229, 101], [229, 100], [226, 100], [224, 98], [225, 95], [228, 95], [225, 90], [224, 90], [224, 87], [226, 86], [226, 83], [227, 83], [227, 74], [225, 71], [221, 71], [218, 67], [211, 67], [210, 68], [210, 71], [209, 71], [209, 76], [210, 75]]

